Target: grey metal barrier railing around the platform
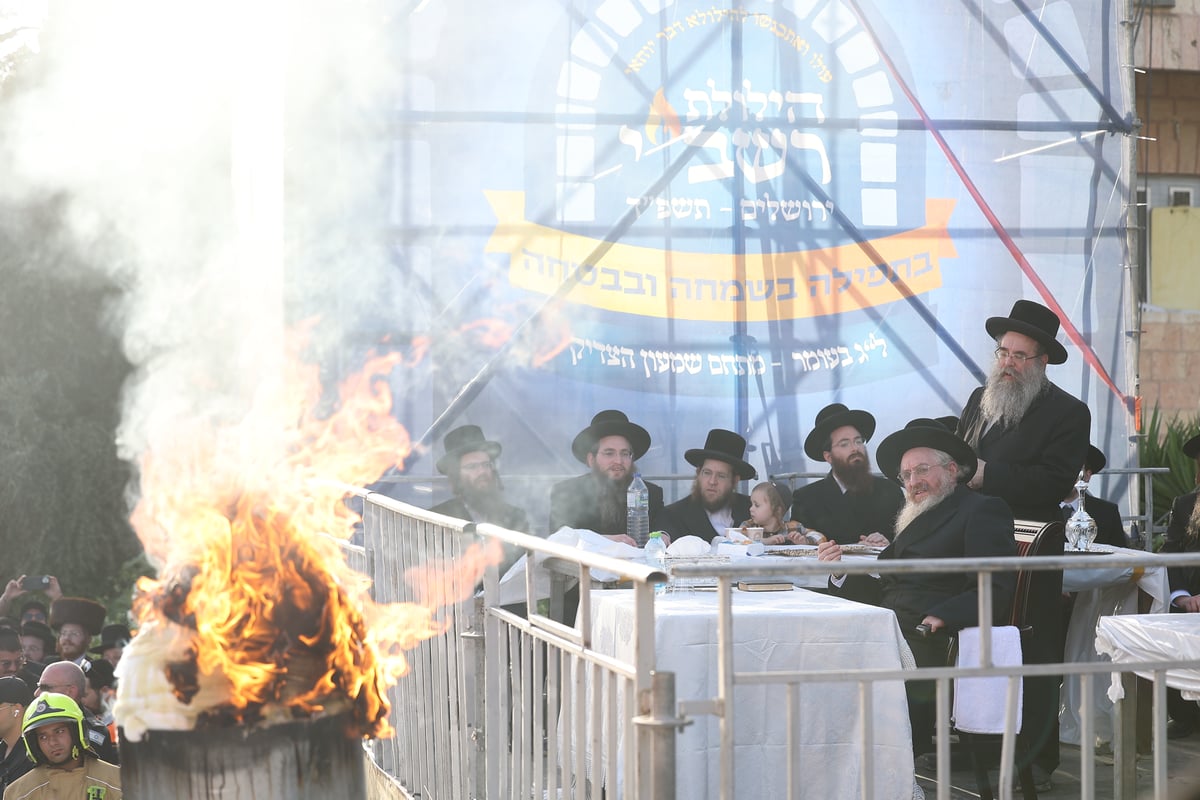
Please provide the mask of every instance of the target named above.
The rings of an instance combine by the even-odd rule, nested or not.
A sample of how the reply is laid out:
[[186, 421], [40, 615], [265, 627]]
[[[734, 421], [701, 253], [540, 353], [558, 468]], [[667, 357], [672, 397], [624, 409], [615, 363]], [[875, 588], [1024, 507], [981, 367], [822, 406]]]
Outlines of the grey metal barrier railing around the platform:
[[[788, 564], [762, 564], [756, 559], [730, 564], [682, 566], [679, 577], [715, 576], [719, 584], [718, 616], [719, 674], [713, 697], [674, 697], [673, 675], [655, 673], [655, 618], [653, 584], [664, 578], [653, 569], [589, 554], [545, 540], [492, 525], [478, 528], [407, 506], [379, 495], [368, 495], [364, 516], [365, 546], [352, 549], [359, 565], [374, 579], [379, 602], [413, 601], [420, 587], [406, 584], [409, 567], [430, 559], [455, 560], [476, 537], [494, 537], [522, 547], [528, 553], [556, 559], [577, 570], [581, 585], [590, 585], [593, 571], [611, 572], [625, 581], [635, 595], [636, 644], [634, 655], [618, 660], [594, 648], [590, 595], [578, 599], [578, 625], [563, 625], [534, 610], [502, 607], [498, 576], [485, 577], [482, 596], [473, 603], [448, 608], [445, 631], [412, 651], [412, 674], [391, 692], [391, 724], [396, 736], [374, 742], [377, 762], [414, 796], [424, 800], [455, 798], [636, 798], [661, 800], [676, 796], [676, 733], [682, 724], [703, 716], [720, 721], [720, 796], [736, 795], [734, 751], [726, 732], [733, 730], [737, 714], [732, 702], [737, 686], [773, 685], [781, 696], [792, 697], [798, 687], [812, 684], [851, 682], [858, 687], [859, 742], [864, 769], [858, 796], [874, 800], [880, 788], [874, 782], [871, 698], [872, 687], [887, 681], [914, 679], [936, 681], [938, 772], [936, 796], [950, 798], [948, 736], [950, 729], [950, 681], [962, 676], [1079, 675], [1081, 697], [1080, 776], [1082, 798], [1094, 796], [1096, 764], [1091, 742], [1094, 738], [1092, 682], [1122, 674], [1126, 700], [1116, 704], [1117, 724], [1112, 747], [1115, 798], [1136, 796], [1134, 680], [1129, 670], [1152, 673], [1153, 687], [1153, 778], [1156, 798], [1166, 798], [1165, 670], [1200, 668], [1187, 661], [1154, 661], [1123, 664], [1116, 669], [1099, 663], [1038, 663], [1000, 668], [989, 649], [991, 582], [995, 572], [1079, 569], [1078, 557], [935, 559], [900, 561], [847, 561], [830, 565], [812, 559]], [[1200, 566], [1200, 554], [1140, 555], [1136, 559], [1112, 554], [1105, 566]], [[732, 640], [733, 587], [738, 581], [796, 578], [840, 573], [955, 572], [976, 573], [979, 587], [982, 625], [980, 667], [937, 667], [860, 670], [734, 670]], [[535, 576], [526, 572], [527, 597], [539, 593]], [[1048, 613], [1057, 613], [1049, 609]], [[1008, 770], [1012, 769], [1015, 694], [1008, 696], [1008, 729], [1003, 734], [1003, 774], [998, 796], [1012, 796]], [[790, 726], [803, 724], [802, 720]], [[730, 733], [732, 735], [732, 733]], [[630, 746], [632, 745], [632, 746]], [[788, 747], [794, 746], [788, 741]], [[790, 798], [804, 796], [792, 783]]]

